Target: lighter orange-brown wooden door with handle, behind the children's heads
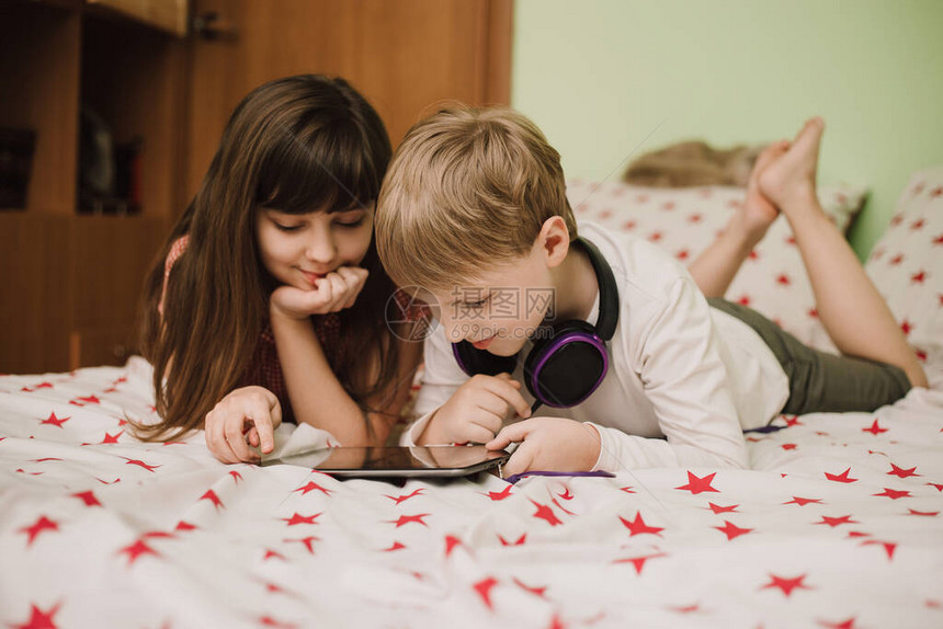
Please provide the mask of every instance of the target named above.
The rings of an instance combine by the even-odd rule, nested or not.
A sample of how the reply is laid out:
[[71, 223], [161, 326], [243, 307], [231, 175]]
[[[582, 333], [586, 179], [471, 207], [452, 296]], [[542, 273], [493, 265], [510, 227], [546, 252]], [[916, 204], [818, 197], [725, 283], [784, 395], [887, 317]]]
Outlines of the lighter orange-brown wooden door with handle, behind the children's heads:
[[396, 146], [445, 101], [508, 104], [512, 0], [194, 0], [186, 194], [196, 193], [236, 104], [259, 84], [325, 73], [376, 107]]

